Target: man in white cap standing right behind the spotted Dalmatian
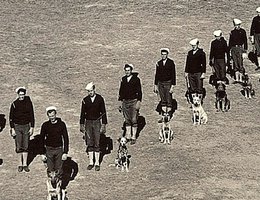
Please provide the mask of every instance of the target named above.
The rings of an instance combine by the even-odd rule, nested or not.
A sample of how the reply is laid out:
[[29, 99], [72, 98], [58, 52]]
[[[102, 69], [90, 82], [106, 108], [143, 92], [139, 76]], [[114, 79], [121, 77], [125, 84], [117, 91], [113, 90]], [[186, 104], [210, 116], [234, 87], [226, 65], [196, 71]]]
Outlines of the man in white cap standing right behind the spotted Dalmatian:
[[122, 77], [118, 100], [121, 102], [119, 106], [123, 110], [126, 124], [126, 138], [135, 144], [137, 133], [137, 118], [142, 101], [141, 81], [138, 73], [133, 72], [133, 65], [126, 64], [124, 66], [125, 76]]

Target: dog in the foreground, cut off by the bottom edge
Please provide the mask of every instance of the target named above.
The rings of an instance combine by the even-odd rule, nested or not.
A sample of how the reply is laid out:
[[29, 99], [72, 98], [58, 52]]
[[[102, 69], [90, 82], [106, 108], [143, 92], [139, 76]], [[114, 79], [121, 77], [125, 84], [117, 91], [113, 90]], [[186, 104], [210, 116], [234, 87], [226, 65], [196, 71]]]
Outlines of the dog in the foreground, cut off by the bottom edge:
[[47, 190], [48, 190], [48, 197], [47, 200], [64, 200], [61, 196], [61, 179], [59, 177], [59, 171], [51, 171], [48, 174], [47, 179]]

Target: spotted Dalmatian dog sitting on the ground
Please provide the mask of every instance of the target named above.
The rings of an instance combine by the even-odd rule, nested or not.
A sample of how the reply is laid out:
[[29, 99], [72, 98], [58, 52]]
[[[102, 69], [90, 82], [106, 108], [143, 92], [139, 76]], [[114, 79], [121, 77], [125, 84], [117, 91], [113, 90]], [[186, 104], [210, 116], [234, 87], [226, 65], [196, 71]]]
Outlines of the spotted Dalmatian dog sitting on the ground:
[[121, 171], [129, 172], [129, 164], [130, 164], [130, 155], [128, 155], [127, 150], [127, 139], [125, 137], [121, 137], [118, 139], [119, 147], [117, 151], [117, 158], [115, 159], [116, 168], [121, 168]]

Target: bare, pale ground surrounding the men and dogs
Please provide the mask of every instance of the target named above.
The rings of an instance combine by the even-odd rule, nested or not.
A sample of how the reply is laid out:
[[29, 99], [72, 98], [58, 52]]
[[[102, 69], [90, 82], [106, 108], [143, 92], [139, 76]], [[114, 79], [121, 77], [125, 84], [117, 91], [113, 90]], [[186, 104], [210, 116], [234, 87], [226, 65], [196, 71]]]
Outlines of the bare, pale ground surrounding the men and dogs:
[[[213, 31], [222, 29], [228, 39], [232, 19], [239, 18], [249, 34], [257, 6], [249, 0], [2, 0], [0, 112], [8, 119], [15, 88], [26, 86], [35, 108], [36, 135], [47, 120], [45, 108], [58, 107], [58, 115], [68, 126], [69, 155], [79, 167], [67, 188], [70, 200], [258, 200], [260, 83], [254, 65], [245, 60], [255, 98], [247, 100], [240, 94], [240, 85], [229, 85], [231, 110], [227, 113], [215, 111], [207, 68], [204, 109], [209, 121], [203, 126], [192, 125], [183, 76], [191, 39], [200, 39], [208, 58]], [[153, 93], [161, 47], [170, 48], [169, 57], [177, 68], [178, 110], [172, 121], [171, 145], [158, 141], [158, 98]], [[113, 166], [116, 140], [122, 133], [117, 97], [125, 63], [133, 63], [142, 80], [141, 115], [146, 120], [137, 143], [129, 146], [129, 173]], [[79, 132], [81, 100], [90, 81], [105, 98], [106, 135], [114, 146], [99, 172], [86, 169], [88, 159]], [[46, 172], [40, 156], [31, 163], [30, 173], [17, 172], [8, 123], [0, 133], [0, 158], [1, 200], [46, 199]]]

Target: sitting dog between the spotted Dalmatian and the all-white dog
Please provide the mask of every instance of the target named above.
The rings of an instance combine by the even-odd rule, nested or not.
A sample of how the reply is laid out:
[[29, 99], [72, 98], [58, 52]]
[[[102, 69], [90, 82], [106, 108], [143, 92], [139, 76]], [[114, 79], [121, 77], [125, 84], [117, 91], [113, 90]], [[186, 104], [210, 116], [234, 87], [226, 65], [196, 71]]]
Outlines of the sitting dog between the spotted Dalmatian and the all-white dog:
[[171, 117], [172, 116], [168, 112], [163, 113], [163, 121], [159, 130], [159, 140], [164, 144], [171, 144], [173, 139], [173, 131], [170, 124]]

